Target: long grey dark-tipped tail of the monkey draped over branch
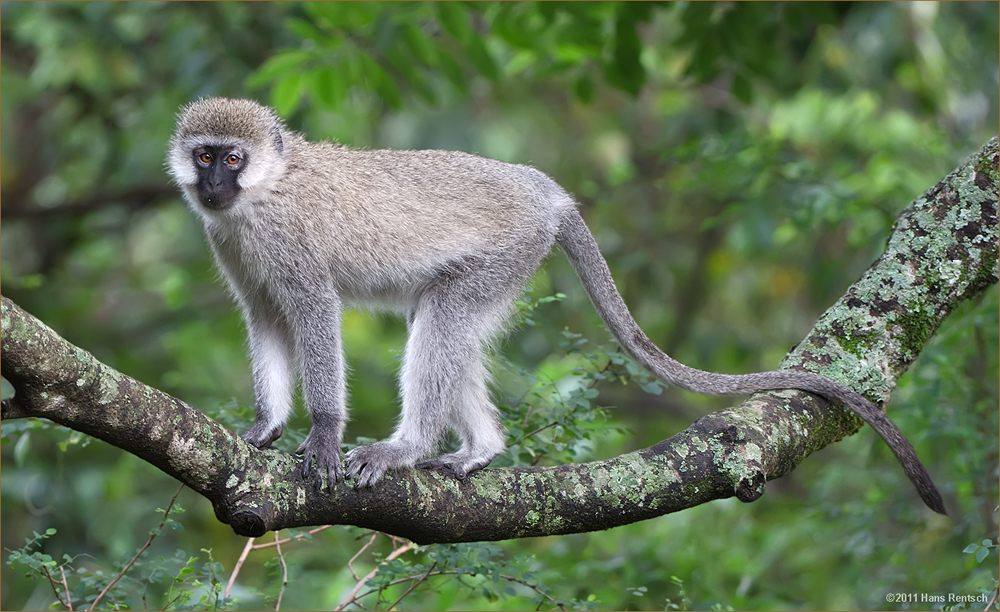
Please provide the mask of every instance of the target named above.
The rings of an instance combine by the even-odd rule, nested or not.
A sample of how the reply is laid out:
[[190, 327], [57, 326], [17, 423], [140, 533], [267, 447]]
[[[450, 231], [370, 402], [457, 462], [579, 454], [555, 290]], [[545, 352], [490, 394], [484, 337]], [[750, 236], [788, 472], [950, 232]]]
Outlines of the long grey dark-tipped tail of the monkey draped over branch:
[[941, 495], [906, 437], [878, 407], [855, 391], [811, 372], [716, 374], [688, 367], [653, 344], [629, 314], [593, 235], [575, 208], [562, 211], [556, 242], [576, 270], [608, 331], [639, 365], [660, 380], [705, 395], [744, 395], [775, 389], [802, 389], [842, 402], [878, 432], [931, 510], [946, 514]]

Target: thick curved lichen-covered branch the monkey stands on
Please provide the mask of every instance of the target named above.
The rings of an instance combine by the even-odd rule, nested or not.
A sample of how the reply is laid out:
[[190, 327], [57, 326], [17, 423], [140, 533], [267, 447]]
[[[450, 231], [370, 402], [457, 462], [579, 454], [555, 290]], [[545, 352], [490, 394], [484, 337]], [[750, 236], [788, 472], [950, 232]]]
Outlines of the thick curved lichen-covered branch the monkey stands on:
[[[908, 206], [882, 257], [782, 362], [888, 400], [941, 321], [998, 280], [998, 145]], [[248, 536], [352, 524], [419, 543], [607, 529], [735, 495], [851, 435], [861, 421], [799, 391], [762, 393], [655, 446], [587, 464], [486, 469], [457, 481], [400, 471], [374, 488], [318, 489], [299, 459], [258, 450], [201, 412], [101, 364], [3, 298], [2, 418], [44, 417], [131, 452], [209, 499]], [[914, 496], [916, 502], [916, 496]]]

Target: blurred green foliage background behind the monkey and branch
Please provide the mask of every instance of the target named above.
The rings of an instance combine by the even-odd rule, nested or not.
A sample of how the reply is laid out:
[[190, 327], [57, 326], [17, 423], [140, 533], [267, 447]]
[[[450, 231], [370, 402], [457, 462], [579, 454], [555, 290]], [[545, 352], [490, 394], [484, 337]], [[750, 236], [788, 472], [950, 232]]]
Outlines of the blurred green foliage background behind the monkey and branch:
[[[705, 369], [770, 369], [873, 261], [902, 207], [997, 134], [997, 6], [3, 3], [2, 291], [143, 382], [211, 414], [246, 408], [242, 324], [163, 160], [181, 105], [254, 97], [313, 139], [534, 165], [577, 195], [654, 341]], [[608, 342], [559, 255], [530, 295], [556, 292], [567, 297], [503, 345], [501, 403], [580, 365], [560, 346], [565, 328]], [[948, 518], [920, 505], [866, 428], [754, 504], [482, 550], [517, 559], [554, 597], [577, 600], [567, 605], [601, 609], [920, 609], [886, 596], [992, 590], [996, 549], [983, 564], [963, 549], [997, 538], [997, 309], [993, 288], [952, 316], [889, 407]], [[349, 438], [388, 434], [403, 332], [391, 317], [347, 317]], [[574, 460], [651, 445], [731, 402], [599, 391], [613, 407], [604, 433], [588, 430]], [[55, 527], [46, 553], [107, 574], [145, 541], [175, 483], [90, 442], [4, 423], [5, 549]], [[210, 549], [232, 571], [245, 540], [194, 494], [179, 502], [186, 528], [146, 552], [152, 566], [169, 582]], [[336, 605], [354, 584], [359, 535], [330, 529], [286, 550], [283, 607]], [[356, 566], [375, 562], [366, 553]], [[251, 556], [238, 607], [275, 595], [274, 570], [273, 554]], [[522, 587], [464, 581], [429, 581], [403, 605], [535, 605]], [[149, 587], [149, 605], [165, 605], [165, 588]], [[51, 601], [46, 584], [2, 567], [0, 608]]]

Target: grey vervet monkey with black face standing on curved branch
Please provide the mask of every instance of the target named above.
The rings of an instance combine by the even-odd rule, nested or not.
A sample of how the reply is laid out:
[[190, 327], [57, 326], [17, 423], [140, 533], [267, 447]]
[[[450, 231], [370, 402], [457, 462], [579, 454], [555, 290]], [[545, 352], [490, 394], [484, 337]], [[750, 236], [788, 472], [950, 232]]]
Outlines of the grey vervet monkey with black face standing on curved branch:
[[[558, 244], [608, 330], [642, 367], [709, 395], [802, 389], [842, 402], [889, 444], [924, 502], [944, 505], [916, 453], [871, 402], [806, 372], [724, 375], [674, 361], [646, 337], [615, 288], [576, 203], [534, 168], [452, 151], [354, 150], [308, 142], [269, 108], [209, 98], [184, 108], [168, 165], [201, 217], [246, 320], [257, 419], [243, 438], [281, 435], [301, 375], [312, 429], [299, 448], [328, 483], [375, 484], [387, 470], [465, 478], [505, 448], [483, 349]], [[405, 314], [402, 417], [392, 436], [341, 465], [347, 420], [341, 310]], [[430, 456], [447, 428], [458, 452]]]

